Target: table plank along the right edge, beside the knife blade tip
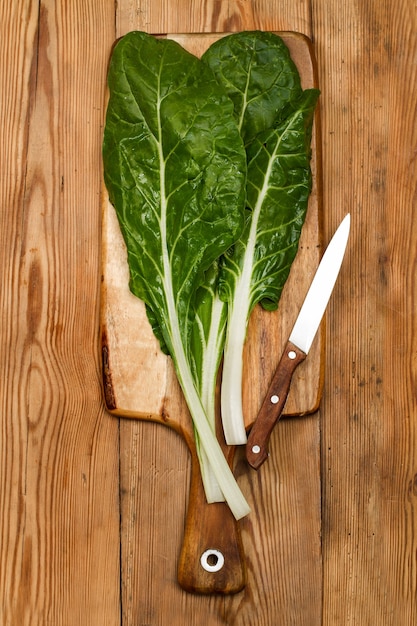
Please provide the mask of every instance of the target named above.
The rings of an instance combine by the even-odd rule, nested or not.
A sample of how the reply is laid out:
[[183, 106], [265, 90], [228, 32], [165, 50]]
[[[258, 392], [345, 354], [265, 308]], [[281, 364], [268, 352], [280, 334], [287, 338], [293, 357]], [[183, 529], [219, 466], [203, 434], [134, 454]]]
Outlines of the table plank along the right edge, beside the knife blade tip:
[[417, 12], [409, 0], [315, 9], [324, 203], [334, 207], [326, 228], [352, 211], [328, 316], [323, 624], [408, 626], [417, 621]]

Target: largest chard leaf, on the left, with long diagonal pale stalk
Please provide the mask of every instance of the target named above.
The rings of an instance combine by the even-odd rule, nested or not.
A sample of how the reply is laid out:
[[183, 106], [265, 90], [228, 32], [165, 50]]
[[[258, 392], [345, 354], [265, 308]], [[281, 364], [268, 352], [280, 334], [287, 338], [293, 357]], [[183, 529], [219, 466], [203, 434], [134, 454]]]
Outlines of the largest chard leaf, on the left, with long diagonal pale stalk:
[[130, 289], [173, 359], [200, 445], [239, 518], [249, 508], [207, 420], [189, 350], [195, 294], [243, 227], [246, 158], [233, 104], [199, 59], [142, 32], [115, 46], [108, 82], [104, 174]]

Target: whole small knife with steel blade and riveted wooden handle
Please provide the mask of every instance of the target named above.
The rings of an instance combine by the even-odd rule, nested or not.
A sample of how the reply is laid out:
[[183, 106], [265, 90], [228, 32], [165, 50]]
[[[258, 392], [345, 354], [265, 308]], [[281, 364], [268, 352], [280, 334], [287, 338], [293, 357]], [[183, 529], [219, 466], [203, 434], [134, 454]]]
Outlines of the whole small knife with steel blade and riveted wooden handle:
[[254, 469], [268, 458], [268, 443], [287, 400], [296, 367], [304, 361], [320, 326], [346, 250], [350, 230], [348, 213], [320, 261], [246, 443], [246, 458]]

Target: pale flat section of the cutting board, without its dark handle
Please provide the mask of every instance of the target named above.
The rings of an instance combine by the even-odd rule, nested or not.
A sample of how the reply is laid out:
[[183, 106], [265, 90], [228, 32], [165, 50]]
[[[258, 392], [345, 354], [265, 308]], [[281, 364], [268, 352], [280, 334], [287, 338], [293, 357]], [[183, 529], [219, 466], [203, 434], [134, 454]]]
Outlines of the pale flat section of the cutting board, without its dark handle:
[[[194, 37], [209, 45], [228, 33], [169, 34], [184, 47]], [[300, 59], [307, 65], [300, 70], [304, 88], [317, 87], [317, 67], [312, 42], [301, 33], [278, 32], [290, 49], [300, 70]], [[205, 49], [204, 47], [202, 49]], [[307, 76], [306, 76], [307, 74]], [[320, 112], [317, 108], [312, 139], [313, 188], [297, 257], [284, 287], [279, 308], [263, 311], [259, 306], [252, 314], [244, 357], [244, 406], [260, 406], [269, 380], [281, 356], [296, 314], [307, 292], [322, 255], [322, 166]], [[314, 233], [314, 240], [309, 239]], [[153, 335], [145, 307], [128, 289], [129, 271], [126, 248], [118, 227], [115, 211], [103, 186], [102, 193], [102, 289], [101, 289], [101, 351], [103, 392], [107, 410], [120, 417], [164, 423], [184, 435], [184, 427], [172, 415], [170, 395], [181, 389], [176, 380], [170, 357], [164, 355]], [[310, 263], [305, 262], [306, 253]], [[307, 271], [306, 271], [307, 267]], [[294, 286], [303, 283], [302, 288]], [[129, 327], [123, 333], [118, 320]], [[270, 334], [274, 340], [270, 341]], [[261, 337], [261, 340], [259, 339]], [[274, 349], [270, 350], [270, 345]], [[325, 319], [313, 342], [306, 361], [295, 373], [283, 416], [303, 416], [318, 410], [324, 384]], [[256, 367], [262, 376], [258, 386], [251, 385], [249, 372]], [[132, 365], [134, 363], [134, 365]], [[132, 374], [132, 369], [135, 373]], [[126, 383], [129, 381], [129, 384]], [[132, 381], [134, 384], [131, 384]], [[155, 393], [155, 389], [157, 393]], [[174, 403], [175, 404], [175, 403]], [[182, 407], [183, 409], [183, 407]], [[246, 417], [247, 425], [254, 419], [255, 408]], [[182, 418], [183, 421], [184, 418]], [[190, 426], [188, 428], [187, 422]], [[185, 419], [185, 431], [191, 432], [191, 420]]]

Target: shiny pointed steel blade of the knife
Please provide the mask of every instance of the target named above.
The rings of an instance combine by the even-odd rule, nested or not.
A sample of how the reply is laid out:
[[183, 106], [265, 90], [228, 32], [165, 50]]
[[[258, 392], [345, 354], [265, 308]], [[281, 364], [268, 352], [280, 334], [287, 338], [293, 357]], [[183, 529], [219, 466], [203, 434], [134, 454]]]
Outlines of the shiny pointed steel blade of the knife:
[[320, 261], [289, 340], [308, 354], [342, 265], [350, 231], [350, 213], [340, 223]]

